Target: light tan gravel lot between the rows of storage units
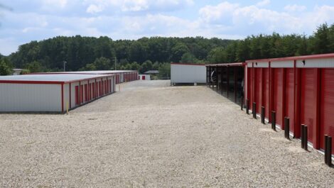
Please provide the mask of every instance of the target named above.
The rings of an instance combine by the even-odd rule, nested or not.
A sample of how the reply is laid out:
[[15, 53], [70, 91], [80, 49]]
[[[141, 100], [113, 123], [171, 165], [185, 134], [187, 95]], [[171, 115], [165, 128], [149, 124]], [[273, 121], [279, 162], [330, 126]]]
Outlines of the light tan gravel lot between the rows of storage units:
[[1, 187], [334, 187], [316, 150], [207, 87], [122, 84], [66, 115], [0, 115]]

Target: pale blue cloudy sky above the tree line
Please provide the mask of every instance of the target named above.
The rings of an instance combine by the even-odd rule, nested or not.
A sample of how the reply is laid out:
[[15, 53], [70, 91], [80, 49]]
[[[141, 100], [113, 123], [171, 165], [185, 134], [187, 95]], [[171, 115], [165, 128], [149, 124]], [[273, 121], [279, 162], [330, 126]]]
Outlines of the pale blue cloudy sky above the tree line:
[[3, 55], [57, 35], [242, 39], [273, 32], [311, 35], [321, 23], [334, 23], [333, 0], [0, 0], [0, 5]]

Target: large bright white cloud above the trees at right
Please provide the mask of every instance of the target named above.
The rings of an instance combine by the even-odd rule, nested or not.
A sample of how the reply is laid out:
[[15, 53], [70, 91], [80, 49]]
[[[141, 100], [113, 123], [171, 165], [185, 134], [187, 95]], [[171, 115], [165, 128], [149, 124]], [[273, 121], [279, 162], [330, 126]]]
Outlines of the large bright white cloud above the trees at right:
[[[261, 5], [269, 2], [262, 1]], [[205, 6], [199, 13], [200, 20], [207, 27], [215, 26], [224, 32], [244, 35], [272, 32], [311, 34], [320, 23], [334, 22], [334, 6], [320, 6], [308, 12], [303, 6], [286, 6], [288, 9], [279, 12], [259, 7], [259, 4], [241, 6], [225, 1], [217, 6]], [[297, 10], [303, 13], [294, 13]]]

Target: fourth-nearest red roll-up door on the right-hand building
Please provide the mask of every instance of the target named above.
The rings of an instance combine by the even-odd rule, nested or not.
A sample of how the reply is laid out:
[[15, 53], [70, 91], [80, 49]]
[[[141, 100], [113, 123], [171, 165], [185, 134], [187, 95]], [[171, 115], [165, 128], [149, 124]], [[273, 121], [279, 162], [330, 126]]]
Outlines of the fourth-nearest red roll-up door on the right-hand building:
[[274, 68], [273, 83], [273, 110], [276, 111], [276, 123], [282, 126], [283, 123], [283, 69]]

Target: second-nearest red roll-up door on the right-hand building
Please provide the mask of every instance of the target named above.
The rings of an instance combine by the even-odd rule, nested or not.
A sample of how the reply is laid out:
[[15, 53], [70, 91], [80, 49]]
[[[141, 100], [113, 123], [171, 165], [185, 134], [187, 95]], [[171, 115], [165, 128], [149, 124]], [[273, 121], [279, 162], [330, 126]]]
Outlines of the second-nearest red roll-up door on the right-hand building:
[[301, 124], [308, 126], [308, 141], [315, 143], [316, 126], [316, 69], [301, 70]]

